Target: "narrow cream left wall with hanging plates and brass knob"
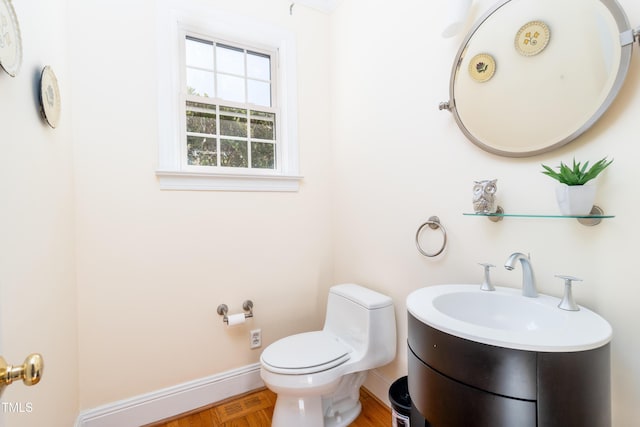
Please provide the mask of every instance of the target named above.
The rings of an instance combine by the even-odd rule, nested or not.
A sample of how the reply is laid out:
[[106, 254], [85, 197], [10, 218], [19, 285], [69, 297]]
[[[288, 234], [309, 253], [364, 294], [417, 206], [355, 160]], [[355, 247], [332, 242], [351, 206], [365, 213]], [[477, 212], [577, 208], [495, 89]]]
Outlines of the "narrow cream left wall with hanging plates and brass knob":
[[[66, 1], [12, 3], [23, 61], [14, 78], [0, 71], [0, 354], [19, 365], [40, 353], [45, 368], [39, 384], [18, 381], [4, 390], [2, 402], [23, 412], [0, 409], [0, 417], [7, 412], [11, 427], [70, 426], [78, 411], [78, 358]], [[57, 129], [39, 112], [45, 65], [60, 82]]]

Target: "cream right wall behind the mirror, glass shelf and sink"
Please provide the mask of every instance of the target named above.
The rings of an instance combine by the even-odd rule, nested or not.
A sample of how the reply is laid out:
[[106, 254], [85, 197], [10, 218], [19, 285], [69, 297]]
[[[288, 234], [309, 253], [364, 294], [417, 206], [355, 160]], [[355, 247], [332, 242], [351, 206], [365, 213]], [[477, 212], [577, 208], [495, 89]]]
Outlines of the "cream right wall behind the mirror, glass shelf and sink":
[[[640, 5], [620, 3], [637, 25]], [[640, 419], [635, 247], [640, 195], [633, 184], [640, 179], [637, 46], [623, 92], [594, 128], [550, 154], [508, 159], [476, 148], [450, 113], [438, 111], [438, 103], [449, 98], [451, 64], [462, 41], [462, 36], [440, 37], [442, 19], [433, 2], [414, 0], [344, 0], [332, 16], [334, 281], [361, 282], [393, 296], [400, 351], [381, 370], [391, 382], [406, 374], [405, 298], [411, 291], [479, 282], [478, 262], [501, 266], [512, 252], [530, 252], [540, 291], [561, 294], [555, 274], [581, 277], [576, 299], [611, 322], [614, 425], [635, 425]], [[597, 198], [615, 219], [590, 228], [574, 220], [492, 223], [462, 215], [472, 210], [473, 180], [484, 178], [498, 179], [499, 204], [507, 212], [556, 212], [554, 184], [539, 172], [540, 164], [571, 161], [574, 155], [615, 158], [599, 181]], [[427, 259], [417, 252], [414, 234], [431, 215], [446, 226], [449, 243], [443, 255]], [[437, 232], [426, 233], [439, 242]], [[503, 268], [494, 269], [493, 277], [514, 287], [522, 280], [520, 271]]]

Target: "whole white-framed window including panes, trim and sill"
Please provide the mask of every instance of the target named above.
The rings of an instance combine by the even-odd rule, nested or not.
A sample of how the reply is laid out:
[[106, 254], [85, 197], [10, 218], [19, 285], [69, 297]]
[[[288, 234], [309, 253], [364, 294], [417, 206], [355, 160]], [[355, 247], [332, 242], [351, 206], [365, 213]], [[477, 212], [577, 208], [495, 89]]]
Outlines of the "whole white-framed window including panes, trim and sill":
[[293, 36], [190, 1], [165, 4], [173, 7], [158, 20], [160, 188], [296, 191]]

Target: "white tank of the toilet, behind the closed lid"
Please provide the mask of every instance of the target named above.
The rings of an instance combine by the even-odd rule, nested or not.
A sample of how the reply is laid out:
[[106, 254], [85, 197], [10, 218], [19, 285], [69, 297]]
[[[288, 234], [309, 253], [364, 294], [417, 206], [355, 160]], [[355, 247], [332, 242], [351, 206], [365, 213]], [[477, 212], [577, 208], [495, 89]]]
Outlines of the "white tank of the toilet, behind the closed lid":
[[390, 297], [355, 284], [329, 290], [325, 331], [338, 336], [355, 351], [358, 369], [391, 362], [396, 354], [396, 318]]

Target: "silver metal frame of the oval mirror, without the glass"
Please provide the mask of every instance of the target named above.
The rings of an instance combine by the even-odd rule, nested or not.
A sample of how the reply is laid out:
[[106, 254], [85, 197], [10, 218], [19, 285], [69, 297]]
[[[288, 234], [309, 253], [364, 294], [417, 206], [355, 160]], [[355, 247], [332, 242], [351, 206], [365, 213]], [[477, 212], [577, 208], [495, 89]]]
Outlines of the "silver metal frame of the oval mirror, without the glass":
[[573, 141], [578, 136], [586, 132], [591, 126], [593, 126], [593, 124], [598, 119], [600, 119], [600, 117], [602, 117], [605, 111], [607, 111], [607, 109], [609, 108], [613, 100], [616, 98], [616, 96], [620, 92], [620, 89], [622, 88], [624, 80], [627, 76], [629, 65], [631, 63], [631, 53], [633, 50], [633, 42], [634, 42], [634, 31], [629, 25], [627, 15], [622, 9], [622, 6], [620, 6], [620, 4], [616, 0], [600, 0], [600, 2], [609, 10], [609, 12], [611, 13], [612, 17], [614, 18], [618, 26], [618, 30], [620, 32], [620, 44], [622, 47], [621, 56], [620, 56], [620, 65], [618, 68], [615, 81], [611, 87], [611, 90], [609, 91], [609, 94], [600, 105], [600, 108], [598, 108], [598, 110], [580, 128], [578, 128], [572, 134], [563, 138], [560, 141], [551, 143], [543, 148], [531, 150], [531, 151], [512, 152], [512, 151], [501, 150], [501, 149], [492, 147], [486, 142], [479, 140], [465, 127], [456, 109], [454, 86], [455, 86], [456, 74], [460, 67], [460, 63], [462, 61], [462, 56], [465, 53], [467, 49], [467, 45], [471, 40], [471, 38], [473, 37], [473, 35], [475, 34], [475, 32], [478, 30], [478, 28], [480, 28], [480, 26], [482, 26], [482, 24], [492, 14], [494, 14], [501, 7], [505, 6], [511, 1], [513, 0], [501, 0], [498, 3], [496, 3], [490, 10], [488, 10], [484, 15], [482, 15], [478, 19], [478, 21], [474, 24], [473, 28], [466, 35], [465, 39], [462, 41], [462, 44], [460, 45], [460, 49], [458, 50], [458, 53], [456, 54], [455, 60], [453, 62], [453, 67], [451, 69], [451, 76], [449, 80], [450, 101], [441, 103], [440, 109], [449, 110], [453, 114], [453, 117], [455, 118], [455, 121], [458, 124], [458, 127], [460, 128], [462, 133], [467, 137], [467, 139], [469, 139], [471, 142], [473, 142], [475, 145], [482, 148], [483, 150], [499, 156], [505, 156], [505, 157], [531, 157], [531, 156], [536, 156], [538, 154], [555, 150], [556, 148], [562, 147], [563, 145], [566, 145], [569, 142]]

